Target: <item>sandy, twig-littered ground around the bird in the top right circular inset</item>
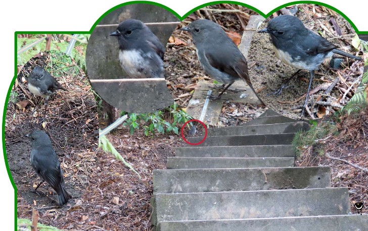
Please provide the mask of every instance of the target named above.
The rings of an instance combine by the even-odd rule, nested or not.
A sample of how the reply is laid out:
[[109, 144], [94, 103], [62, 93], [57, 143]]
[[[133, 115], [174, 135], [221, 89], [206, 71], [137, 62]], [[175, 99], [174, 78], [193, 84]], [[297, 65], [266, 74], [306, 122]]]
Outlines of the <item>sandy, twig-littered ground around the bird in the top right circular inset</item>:
[[[298, 17], [307, 28], [317, 34], [322, 33], [325, 38], [338, 45], [340, 49], [354, 55], [357, 53], [351, 46], [351, 39], [356, 33], [342, 16], [325, 7], [311, 4], [298, 5], [298, 9], [299, 11], [296, 13], [296, 17]], [[277, 12], [277, 14], [281, 13]], [[272, 17], [273, 16], [266, 19], [265, 22], [259, 26], [259, 30], [265, 28], [266, 23], [272, 19]], [[336, 24], [342, 32], [342, 36], [337, 34], [336, 29], [334, 29], [330, 23], [331, 19], [336, 21]], [[342, 56], [337, 55], [336, 57], [341, 58]], [[278, 89], [286, 79], [297, 71], [281, 62], [275, 56], [268, 34], [256, 33], [254, 35], [247, 60], [251, 82], [259, 96], [270, 109], [293, 119], [311, 119], [308, 114], [301, 118], [301, 109], [294, 108], [304, 103], [309, 83], [308, 71], [302, 71], [294, 77], [290, 82], [292, 87], [284, 89], [279, 96], [268, 96], [268, 94]], [[321, 65], [320, 70], [315, 72], [315, 77], [311, 86], [311, 92], [313, 91], [313, 94], [309, 97], [313, 98], [313, 102], [317, 101], [316, 98], [321, 97], [321, 101], [336, 102], [342, 106], [345, 105], [347, 100], [342, 99], [342, 102], [340, 102], [340, 99], [346, 89], [362, 75], [363, 61], [347, 60], [344, 58], [341, 67], [340, 69], [332, 69], [329, 67], [329, 61], [326, 60], [325, 63]], [[339, 78], [339, 76], [341, 76], [341, 78]], [[335, 79], [337, 79], [338, 82], [333, 90], [329, 94], [323, 93]], [[357, 85], [358, 83], [355, 86]], [[318, 90], [318, 88], [320, 88], [320, 90]], [[353, 87], [353, 89], [355, 89], [355, 87]], [[347, 96], [350, 98], [351, 94], [348, 93]], [[311, 108], [311, 112], [314, 114], [315, 118], [318, 118], [316, 112], [320, 113], [321, 115], [319, 118], [321, 118], [325, 115], [325, 111], [327, 111], [327, 113], [329, 111], [333, 113], [338, 109], [339, 108], [331, 106], [316, 106]]]

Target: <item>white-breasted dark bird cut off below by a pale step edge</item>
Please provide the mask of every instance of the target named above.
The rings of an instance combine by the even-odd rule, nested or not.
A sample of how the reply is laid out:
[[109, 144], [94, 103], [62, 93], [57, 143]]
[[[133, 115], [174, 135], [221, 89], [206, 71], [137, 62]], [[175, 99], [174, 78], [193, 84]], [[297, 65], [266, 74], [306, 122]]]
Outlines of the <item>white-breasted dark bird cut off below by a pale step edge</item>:
[[110, 34], [119, 41], [119, 61], [129, 78], [164, 78], [165, 47], [140, 20], [128, 19]]

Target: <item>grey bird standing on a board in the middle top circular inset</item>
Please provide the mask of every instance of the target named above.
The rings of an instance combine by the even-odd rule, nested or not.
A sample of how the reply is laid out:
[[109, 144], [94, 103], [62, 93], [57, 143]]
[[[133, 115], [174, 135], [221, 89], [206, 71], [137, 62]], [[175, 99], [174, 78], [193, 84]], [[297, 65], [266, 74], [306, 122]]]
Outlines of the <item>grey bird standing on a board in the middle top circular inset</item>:
[[[219, 99], [237, 79], [245, 81], [254, 91], [244, 55], [218, 24], [199, 19], [181, 30], [192, 34], [198, 60], [205, 73], [222, 83], [223, 87], [227, 84], [217, 97], [212, 98]], [[258, 99], [264, 104], [259, 97]]]

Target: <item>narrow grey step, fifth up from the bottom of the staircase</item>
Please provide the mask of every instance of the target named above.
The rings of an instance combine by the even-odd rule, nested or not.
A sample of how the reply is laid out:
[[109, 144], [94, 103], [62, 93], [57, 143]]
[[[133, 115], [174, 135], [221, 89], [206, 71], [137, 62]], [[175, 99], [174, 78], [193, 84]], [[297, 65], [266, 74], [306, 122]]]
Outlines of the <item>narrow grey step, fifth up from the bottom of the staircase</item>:
[[178, 157], [295, 157], [292, 145], [177, 147]]

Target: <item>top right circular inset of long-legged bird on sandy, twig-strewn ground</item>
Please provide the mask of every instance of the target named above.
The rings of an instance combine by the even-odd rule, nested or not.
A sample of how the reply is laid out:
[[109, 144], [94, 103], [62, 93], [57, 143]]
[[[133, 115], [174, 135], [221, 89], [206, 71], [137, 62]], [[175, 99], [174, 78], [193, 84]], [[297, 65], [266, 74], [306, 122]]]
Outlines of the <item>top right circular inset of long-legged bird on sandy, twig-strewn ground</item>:
[[257, 29], [248, 65], [267, 107], [293, 119], [323, 118], [354, 95], [363, 72], [360, 40], [335, 11], [313, 4], [274, 12]]

